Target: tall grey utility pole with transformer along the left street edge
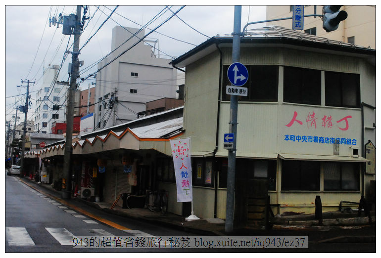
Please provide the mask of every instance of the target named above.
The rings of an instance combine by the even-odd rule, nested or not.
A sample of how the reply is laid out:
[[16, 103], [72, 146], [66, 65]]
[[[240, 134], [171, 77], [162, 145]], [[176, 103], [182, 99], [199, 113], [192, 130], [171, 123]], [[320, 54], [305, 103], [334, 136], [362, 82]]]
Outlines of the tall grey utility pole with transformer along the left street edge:
[[71, 59], [71, 75], [68, 104], [66, 110], [66, 141], [65, 153], [63, 157], [63, 181], [62, 181], [62, 198], [70, 199], [71, 197], [71, 155], [72, 155], [72, 138], [73, 138], [73, 119], [74, 119], [74, 93], [76, 91], [77, 77], [79, 70], [79, 38], [81, 34], [81, 5], [77, 5], [77, 15], [74, 28], [74, 43]]

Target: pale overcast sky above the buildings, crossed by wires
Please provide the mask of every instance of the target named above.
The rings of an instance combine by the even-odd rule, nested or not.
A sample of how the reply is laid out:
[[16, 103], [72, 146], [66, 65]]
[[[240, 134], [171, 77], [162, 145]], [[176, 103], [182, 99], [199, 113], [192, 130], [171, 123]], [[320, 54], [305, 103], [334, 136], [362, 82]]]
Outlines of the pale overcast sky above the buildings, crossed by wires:
[[[88, 15], [95, 15], [89, 21], [86, 29], [81, 35], [80, 47], [95, 33], [115, 6], [116, 5], [100, 5], [97, 10], [95, 5], [90, 5]], [[171, 7], [171, 10], [175, 12], [180, 7], [180, 5], [173, 6]], [[141, 28], [140, 25], [146, 24], [164, 8], [164, 5], [120, 5], [111, 18], [96, 33], [95, 37], [81, 50], [79, 60], [84, 60], [84, 68], [95, 63], [111, 51], [111, 33], [113, 27], [118, 26], [119, 24], [126, 27]], [[30, 80], [31, 82], [36, 81], [36, 84], [33, 86], [31, 85], [30, 87], [33, 99], [36, 96], [36, 93], [33, 91], [40, 88], [43, 83], [43, 68], [48, 67], [49, 63], [57, 65], [61, 63], [69, 36], [62, 34], [61, 26], [58, 29], [53, 26], [49, 27], [48, 17], [58, 16], [59, 13], [69, 15], [70, 13], [75, 12], [76, 6], [74, 5], [5, 6], [6, 120], [9, 120], [9, 117], [15, 113], [14, 108], [16, 106], [25, 105], [25, 94], [23, 93], [26, 92], [26, 87], [16, 87], [17, 85], [21, 85], [21, 79]], [[154, 29], [171, 14], [170, 11], [165, 12], [157, 19], [157, 21], [149, 25], [148, 28]], [[178, 13], [178, 16], [198, 32], [190, 28], [178, 17], [173, 17], [171, 20], [163, 24], [157, 31], [186, 43], [170, 39], [155, 32], [152, 33], [148, 38], [159, 40], [159, 49], [162, 51], [160, 53], [161, 56], [168, 54], [170, 56], [178, 57], [191, 50], [195, 45], [206, 41], [208, 38], [204, 35], [208, 37], [213, 37], [217, 34], [225, 36], [226, 34], [230, 35], [233, 32], [233, 5], [187, 5]], [[242, 27], [247, 22], [261, 21], [265, 19], [265, 6], [242, 6]], [[263, 26], [265, 26], [264, 23], [255, 26], [253, 25], [252, 28]], [[145, 34], [148, 32], [149, 30], [146, 29]], [[71, 38], [70, 44], [72, 43], [72, 40], [73, 37]], [[67, 66], [69, 62], [71, 62], [71, 55], [68, 56], [63, 64], [63, 68], [58, 78], [59, 80], [68, 80]], [[86, 77], [91, 74], [91, 72], [95, 71], [95, 68], [81, 74], [81, 77]], [[26, 86], [26, 83], [23, 85]], [[84, 85], [87, 86], [88, 82], [82, 84], [82, 86]], [[31, 109], [29, 109], [30, 115], [28, 115], [28, 119], [32, 117], [31, 115], [35, 111], [35, 108], [36, 106], [32, 105]], [[23, 120], [23, 113], [21, 115]]]

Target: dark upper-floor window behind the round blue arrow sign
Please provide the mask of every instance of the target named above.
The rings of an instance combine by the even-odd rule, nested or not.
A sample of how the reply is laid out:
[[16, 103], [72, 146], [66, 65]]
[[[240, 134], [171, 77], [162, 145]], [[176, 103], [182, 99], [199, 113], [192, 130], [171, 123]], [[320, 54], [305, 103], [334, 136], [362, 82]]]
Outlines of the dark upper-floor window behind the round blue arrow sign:
[[[224, 66], [222, 80], [222, 100], [230, 101], [230, 95], [226, 94], [226, 86], [231, 85], [228, 80], [228, 68]], [[249, 73], [248, 81], [243, 87], [247, 87], [247, 96], [238, 96], [238, 101], [271, 102], [278, 101], [278, 66], [246, 66]]]

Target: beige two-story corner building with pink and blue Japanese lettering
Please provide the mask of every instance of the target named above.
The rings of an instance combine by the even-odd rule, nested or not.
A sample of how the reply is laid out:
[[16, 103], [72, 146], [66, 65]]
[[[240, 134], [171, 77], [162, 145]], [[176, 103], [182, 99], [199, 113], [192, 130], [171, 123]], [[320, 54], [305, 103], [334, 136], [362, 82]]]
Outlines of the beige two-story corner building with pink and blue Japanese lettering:
[[[255, 196], [266, 188], [261, 180], [274, 214], [313, 213], [317, 195], [323, 211], [358, 202], [375, 180], [364, 146], [376, 145], [376, 51], [278, 26], [247, 34], [240, 44], [249, 78], [248, 95], [238, 97], [235, 220], [262, 217]], [[226, 213], [232, 41], [213, 37], [172, 61], [186, 68], [183, 129], [200, 217]]]

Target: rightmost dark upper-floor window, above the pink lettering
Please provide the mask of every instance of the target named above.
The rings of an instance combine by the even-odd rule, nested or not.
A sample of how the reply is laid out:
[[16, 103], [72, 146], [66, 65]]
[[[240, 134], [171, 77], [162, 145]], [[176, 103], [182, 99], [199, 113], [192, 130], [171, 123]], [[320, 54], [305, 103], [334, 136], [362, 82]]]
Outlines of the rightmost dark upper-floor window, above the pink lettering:
[[326, 106], [360, 108], [360, 75], [325, 72]]

